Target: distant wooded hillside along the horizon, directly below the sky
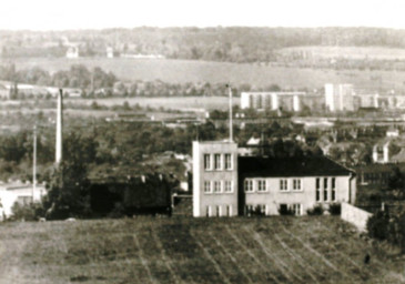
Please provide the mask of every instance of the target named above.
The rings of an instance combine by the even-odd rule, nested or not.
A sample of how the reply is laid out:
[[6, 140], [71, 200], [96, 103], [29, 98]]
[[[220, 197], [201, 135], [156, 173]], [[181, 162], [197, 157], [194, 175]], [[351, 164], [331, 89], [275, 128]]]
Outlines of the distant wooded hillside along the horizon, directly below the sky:
[[255, 62], [277, 60], [282, 48], [307, 45], [405, 48], [405, 30], [381, 28], [135, 28], [83, 31], [0, 31], [0, 54], [63, 57], [154, 54], [171, 59]]

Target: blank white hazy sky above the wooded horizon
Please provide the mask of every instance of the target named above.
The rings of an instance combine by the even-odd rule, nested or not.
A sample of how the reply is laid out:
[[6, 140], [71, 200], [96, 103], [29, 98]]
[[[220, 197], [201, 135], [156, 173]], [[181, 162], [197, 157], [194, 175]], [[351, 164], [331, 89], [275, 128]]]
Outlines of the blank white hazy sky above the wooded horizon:
[[0, 29], [153, 27], [405, 28], [405, 0], [2, 0]]

